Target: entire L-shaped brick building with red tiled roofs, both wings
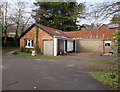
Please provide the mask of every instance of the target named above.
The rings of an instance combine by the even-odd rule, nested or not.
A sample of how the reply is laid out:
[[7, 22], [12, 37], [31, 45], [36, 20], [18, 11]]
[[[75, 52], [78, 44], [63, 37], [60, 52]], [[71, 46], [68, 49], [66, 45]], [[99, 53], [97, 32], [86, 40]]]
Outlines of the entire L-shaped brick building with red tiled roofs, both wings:
[[97, 52], [113, 53], [112, 45], [116, 29], [102, 25], [94, 31], [63, 32], [58, 29], [33, 24], [20, 36], [20, 47], [34, 50], [36, 43], [36, 27], [39, 28], [38, 44], [44, 55], [58, 55], [62, 52]]

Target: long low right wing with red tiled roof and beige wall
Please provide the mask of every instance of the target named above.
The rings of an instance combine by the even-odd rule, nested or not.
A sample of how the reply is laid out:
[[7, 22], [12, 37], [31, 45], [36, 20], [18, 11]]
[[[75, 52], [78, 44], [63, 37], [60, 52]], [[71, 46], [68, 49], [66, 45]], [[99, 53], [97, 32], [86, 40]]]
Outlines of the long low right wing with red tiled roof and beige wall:
[[76, 40], [77, 52], [90, 52], [90, 53], [114, 53], [113, 41], [116, 28], [109, 28], [103, 24], [97, 30], [84, 30], [84, 31], [71, 31], [64, 32], [66, 35]]

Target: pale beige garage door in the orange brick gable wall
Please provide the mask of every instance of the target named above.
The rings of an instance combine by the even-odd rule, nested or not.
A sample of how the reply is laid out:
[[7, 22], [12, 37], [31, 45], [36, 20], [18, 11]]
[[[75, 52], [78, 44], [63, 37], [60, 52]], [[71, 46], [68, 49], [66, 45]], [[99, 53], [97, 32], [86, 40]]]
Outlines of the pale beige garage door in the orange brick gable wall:
[[44, 55], [53, 55], [53, 41], [44, 41]]

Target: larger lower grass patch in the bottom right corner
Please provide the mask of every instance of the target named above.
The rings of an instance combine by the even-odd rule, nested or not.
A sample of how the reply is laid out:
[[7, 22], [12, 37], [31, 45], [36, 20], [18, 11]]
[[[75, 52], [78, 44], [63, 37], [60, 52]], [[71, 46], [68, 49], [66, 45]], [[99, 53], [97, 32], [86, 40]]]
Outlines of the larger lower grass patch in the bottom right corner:
[[111, 72], [95, 72], [92, 74], [92, 77], [102, 82], [103, 84], [112, 87], [113, 89], [117, 89], [118, 76], [117, 74], [115, 74], [116, 77], [112, 79], [111, 75], [112, 75]]

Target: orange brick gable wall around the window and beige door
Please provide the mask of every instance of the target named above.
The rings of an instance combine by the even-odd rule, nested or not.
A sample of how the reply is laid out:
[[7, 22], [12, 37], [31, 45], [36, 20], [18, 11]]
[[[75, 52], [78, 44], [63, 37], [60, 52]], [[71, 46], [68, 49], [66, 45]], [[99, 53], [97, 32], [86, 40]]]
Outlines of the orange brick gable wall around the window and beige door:
[[[33, 27], [30, 31], [28, 31], [23, 37], [20, 39], [20, 47], [24, 47], [24, 39], [33, 39], [34, 41], [34, 47], [36, 44], [36, 26]], [[46, 32], [42, 31], [39, 29], [39, 36], [38, 36], [38, 45], [39, 48], [41, 49], [41, 53], [43, 54], [43, 40], [44, 39], [51, 39], [53, 40], [53, 37], [48, 35]]]

